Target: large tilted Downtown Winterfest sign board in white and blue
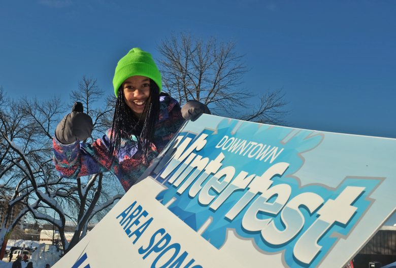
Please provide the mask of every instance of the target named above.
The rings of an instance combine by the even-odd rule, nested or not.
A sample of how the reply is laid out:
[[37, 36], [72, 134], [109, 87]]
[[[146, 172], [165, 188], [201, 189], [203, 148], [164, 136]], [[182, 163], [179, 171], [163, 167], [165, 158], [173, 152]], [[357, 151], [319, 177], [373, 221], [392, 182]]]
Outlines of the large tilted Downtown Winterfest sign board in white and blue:
[[343, 267], [396, 208], [396, 140], [204, 114], [55, 267]]

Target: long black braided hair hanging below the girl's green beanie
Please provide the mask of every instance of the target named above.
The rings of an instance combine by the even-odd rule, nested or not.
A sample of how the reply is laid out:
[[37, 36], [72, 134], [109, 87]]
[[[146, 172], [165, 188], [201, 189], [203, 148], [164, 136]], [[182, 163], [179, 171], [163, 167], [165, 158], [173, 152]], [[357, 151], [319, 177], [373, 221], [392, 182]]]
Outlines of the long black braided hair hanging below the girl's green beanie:
[[[149, 99], [150, 101], [146, 102], [144, 106], [143, 113], [137, 118], [125, 103], [122, 85], [118, 90], [110, 134], [109, 155], [112, 156], [112, 161], [117, 157], [121, 139], [124, 138], [133, 141], [136, 148], [143, 151], [146, 162], [148, 162], [148, 154], [151, 143], [154, 141], [155, 125], [159, 116], [159, 88], [151, 79]], [[143, 118], [144, 116], [145, 118]], [[133, 136], [136, 139], [133, 139]]]

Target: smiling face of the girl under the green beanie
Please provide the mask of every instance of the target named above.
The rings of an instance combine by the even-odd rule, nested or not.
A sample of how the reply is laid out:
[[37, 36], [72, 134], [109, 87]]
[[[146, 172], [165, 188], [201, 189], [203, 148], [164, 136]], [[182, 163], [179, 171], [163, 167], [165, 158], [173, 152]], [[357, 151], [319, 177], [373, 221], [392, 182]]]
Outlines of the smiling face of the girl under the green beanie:
[[131, 76], [122, 83], [124, 101], [137, 118], [142, 116], [145, 105], [150, 103], [150, 79], [146, 76]]

